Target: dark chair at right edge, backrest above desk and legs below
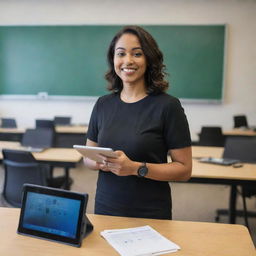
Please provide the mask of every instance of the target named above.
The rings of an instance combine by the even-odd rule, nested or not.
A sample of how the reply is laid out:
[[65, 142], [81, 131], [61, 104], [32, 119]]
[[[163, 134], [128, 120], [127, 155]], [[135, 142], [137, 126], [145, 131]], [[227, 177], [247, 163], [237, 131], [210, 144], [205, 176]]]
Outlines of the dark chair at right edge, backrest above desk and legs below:
[[[225, 143], [223, 158], [238, 159], [244, 163], [256, 163], [256, 138], [228, 137]], [[248, 217], [256, 217], [256, 212], [247, 211], [246, 198], [256, 195], [255, 185], [241, 186], [243, 210], [237, 210], [236, 216], [244, 217], [245, 224], [249, 228]], [[215, 220], [219, 221], [220, 215], [228, 215], [227, 209], [218, 209]]]

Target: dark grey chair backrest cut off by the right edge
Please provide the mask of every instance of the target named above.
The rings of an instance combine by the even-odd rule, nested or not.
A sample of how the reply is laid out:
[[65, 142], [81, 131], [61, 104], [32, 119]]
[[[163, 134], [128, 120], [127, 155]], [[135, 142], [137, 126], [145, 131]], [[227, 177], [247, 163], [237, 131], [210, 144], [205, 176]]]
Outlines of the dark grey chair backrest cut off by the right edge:
[[256, 163], [256, 138], [227, 137], [223, 157]]

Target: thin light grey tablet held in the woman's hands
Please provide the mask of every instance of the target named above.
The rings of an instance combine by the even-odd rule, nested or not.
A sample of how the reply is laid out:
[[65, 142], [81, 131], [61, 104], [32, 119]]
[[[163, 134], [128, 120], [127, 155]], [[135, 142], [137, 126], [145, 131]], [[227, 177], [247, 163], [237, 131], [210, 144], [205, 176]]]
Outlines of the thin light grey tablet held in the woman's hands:
[[83, 156], [90, 158], [98, 163], [102, 163], [102, 156], [117, 158], [116, 153], [112, 148], [101, 148], [101, 147], [89, 147], [83, 145], [74, 145], [75, 148]]

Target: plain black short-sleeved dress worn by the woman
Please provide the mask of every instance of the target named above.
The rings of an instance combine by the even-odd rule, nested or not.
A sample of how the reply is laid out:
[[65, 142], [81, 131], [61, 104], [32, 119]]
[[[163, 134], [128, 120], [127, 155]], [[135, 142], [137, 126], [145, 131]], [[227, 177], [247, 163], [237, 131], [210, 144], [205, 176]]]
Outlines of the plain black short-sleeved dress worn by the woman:
[[[133, 161], [166, 163], [170, 149], [191, 146], [189, 127], [178, 99], [149, 95], [125, 103], [119, 94], [96, 102], [87, 138], [100, 147], [122, 150]], [[95, 213], [148, 218], [171, 218], [168, 182], [99, 172]]]

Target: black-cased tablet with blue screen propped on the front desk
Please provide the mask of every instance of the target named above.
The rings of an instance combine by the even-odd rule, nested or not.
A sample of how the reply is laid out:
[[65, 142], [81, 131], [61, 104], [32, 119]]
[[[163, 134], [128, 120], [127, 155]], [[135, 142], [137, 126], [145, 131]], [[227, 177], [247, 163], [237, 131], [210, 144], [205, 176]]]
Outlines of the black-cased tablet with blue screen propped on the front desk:
[[80, 247], [93, 229], [87, 201], [88, 194], [24, 184], [17, 232]]

